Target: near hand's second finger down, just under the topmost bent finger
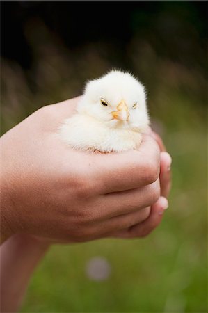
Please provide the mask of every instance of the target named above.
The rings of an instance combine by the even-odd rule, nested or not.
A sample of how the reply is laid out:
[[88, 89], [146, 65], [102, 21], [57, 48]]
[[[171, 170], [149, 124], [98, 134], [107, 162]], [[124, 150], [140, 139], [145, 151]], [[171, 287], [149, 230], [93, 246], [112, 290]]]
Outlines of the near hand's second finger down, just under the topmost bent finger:
[[143, 209], [149, 207], [160, 196], [159, 179], [156, 182], [130, 191], [121, 191], [119, 193], [109, 193], [101, 198], [104, 207], [99, 205], [99, 213], [102, 218], [116, 218], [122, 214], [128, 214], [137, 211], [138, 207]]

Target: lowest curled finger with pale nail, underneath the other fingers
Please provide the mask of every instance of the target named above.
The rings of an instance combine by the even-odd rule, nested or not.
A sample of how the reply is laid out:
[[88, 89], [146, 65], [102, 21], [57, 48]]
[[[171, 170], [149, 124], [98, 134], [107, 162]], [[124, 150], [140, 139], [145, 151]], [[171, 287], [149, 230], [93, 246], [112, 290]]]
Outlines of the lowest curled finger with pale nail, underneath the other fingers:
[[138, 223], [137, 225], [131, 226], [127, 230], [122, 230], [120, 232], [114, 232], [111, 236], [119, 237], [119, 238], [136, 238], [143, 237], [150, 234], [152, 230], [154, 230], [163, 217], [163, 212], [168, 207], [168, 200], [164, 197], [160, 197], [159, 200], [152, 205], [150, 216], [144, 220], [142, 223]]

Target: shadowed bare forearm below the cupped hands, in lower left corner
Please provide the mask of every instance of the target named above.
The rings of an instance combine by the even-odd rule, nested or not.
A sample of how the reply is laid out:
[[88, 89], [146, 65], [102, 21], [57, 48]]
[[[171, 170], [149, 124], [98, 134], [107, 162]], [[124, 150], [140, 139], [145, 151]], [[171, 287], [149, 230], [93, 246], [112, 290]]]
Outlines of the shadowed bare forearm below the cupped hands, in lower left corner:
[[29, 279], [48, 244], [33, 236], [16, 234], [1, 245], [1, 312], [16, 312]]

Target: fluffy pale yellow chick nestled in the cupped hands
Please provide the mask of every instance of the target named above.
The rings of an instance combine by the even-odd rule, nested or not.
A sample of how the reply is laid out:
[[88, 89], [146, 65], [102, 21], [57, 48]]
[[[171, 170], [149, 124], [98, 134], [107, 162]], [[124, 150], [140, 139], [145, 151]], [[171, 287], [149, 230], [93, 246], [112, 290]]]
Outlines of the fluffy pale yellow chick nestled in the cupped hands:
[[138, 149], [148, 125], [144, 86], [128, 72], [112, 70], [88, 81], [77, 112], [59, 130], [75, 149], [122, 152]]

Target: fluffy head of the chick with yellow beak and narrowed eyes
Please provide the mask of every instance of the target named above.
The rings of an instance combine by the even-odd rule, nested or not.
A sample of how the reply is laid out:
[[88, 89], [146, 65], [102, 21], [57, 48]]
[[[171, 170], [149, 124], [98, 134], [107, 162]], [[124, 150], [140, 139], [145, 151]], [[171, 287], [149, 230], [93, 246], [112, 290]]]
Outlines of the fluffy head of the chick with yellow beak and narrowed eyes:
[[111, 71], [89, 81], [78, 111], [109, 127], [139, 127], [148, 124], [144, 86], [128, 72]]

